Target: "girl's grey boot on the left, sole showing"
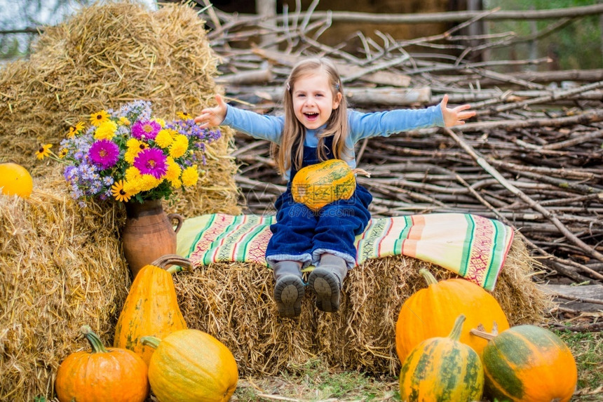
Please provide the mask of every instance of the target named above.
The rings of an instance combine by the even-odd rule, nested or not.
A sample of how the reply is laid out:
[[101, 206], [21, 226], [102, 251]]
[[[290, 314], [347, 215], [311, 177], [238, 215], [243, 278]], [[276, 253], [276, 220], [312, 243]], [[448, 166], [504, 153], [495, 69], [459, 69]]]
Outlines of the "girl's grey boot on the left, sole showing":
[[302, 312], [304, 281], [301, 269], [302, 263], [298, 261], [279, 261], [274, 264], [274, 301], [281, 317], [299, 316]]

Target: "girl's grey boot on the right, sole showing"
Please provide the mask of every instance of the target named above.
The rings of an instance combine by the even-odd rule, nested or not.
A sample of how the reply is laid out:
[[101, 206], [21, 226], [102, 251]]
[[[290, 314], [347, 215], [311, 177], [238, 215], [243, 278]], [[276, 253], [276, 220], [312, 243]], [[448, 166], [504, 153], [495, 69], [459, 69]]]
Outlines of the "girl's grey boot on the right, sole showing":
[[341, 286], [348, 273], [346, 260], [325, 253], [320, 256], [320, 263], [308, 278], [308, 286], [316, 293], [316, 307], [319, 310], [334, 312], [339, 310]]

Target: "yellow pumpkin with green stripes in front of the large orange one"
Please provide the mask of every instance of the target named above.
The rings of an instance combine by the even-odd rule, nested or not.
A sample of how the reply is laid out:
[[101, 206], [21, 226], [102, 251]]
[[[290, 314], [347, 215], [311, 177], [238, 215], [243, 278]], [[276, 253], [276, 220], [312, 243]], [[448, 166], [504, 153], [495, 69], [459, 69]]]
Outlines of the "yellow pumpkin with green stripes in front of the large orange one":
[[432, 337], [410, 351], [400, 370], [402, 401], [480, 401], [484, 369], [480, 356], [459, 342], [465, 316], [454, 322], [448, 337]]

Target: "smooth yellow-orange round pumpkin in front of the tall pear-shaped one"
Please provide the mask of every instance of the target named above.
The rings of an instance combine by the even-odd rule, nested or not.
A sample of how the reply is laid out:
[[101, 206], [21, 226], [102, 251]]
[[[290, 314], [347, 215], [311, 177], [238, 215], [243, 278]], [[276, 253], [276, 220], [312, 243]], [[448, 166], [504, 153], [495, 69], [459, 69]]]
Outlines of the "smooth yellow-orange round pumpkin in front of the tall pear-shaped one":
[[231, 351], [200, 330], [179, 330], [163, 338], [143, 337], [156, 347], [149, 363], [149, 382], [160, 402], [228, 401], [238, 370]]

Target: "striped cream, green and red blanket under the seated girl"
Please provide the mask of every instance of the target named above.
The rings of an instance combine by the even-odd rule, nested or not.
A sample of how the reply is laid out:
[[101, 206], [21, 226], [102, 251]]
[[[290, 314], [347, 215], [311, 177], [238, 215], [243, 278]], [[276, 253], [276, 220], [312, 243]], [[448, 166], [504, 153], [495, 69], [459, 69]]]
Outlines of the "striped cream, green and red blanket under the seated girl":
[[[195, 265], [257, 262], [271, 236], [273, 215], [201, 215], [184, 221], [177, 253]], [[356, 236], [357, 264], [369, 258], [407, 255], [433, 262], [487, 290], [496, 279], [513, 240], [497, 220], [462, 213], [434, 213], [372, 219]]]

